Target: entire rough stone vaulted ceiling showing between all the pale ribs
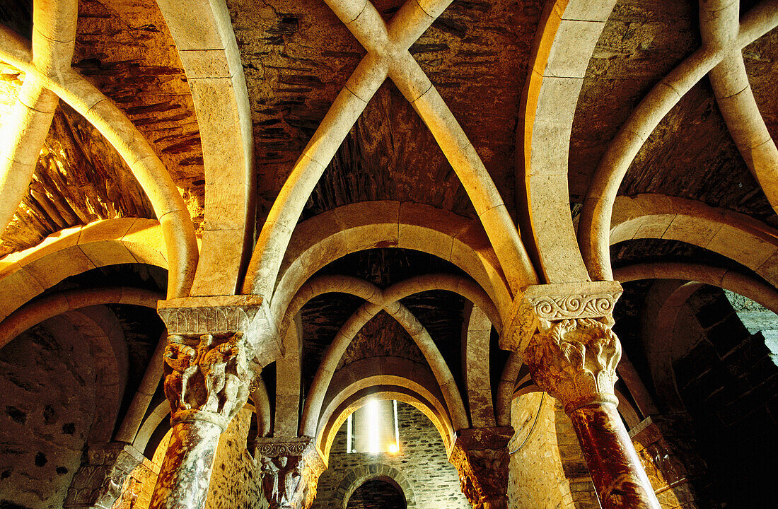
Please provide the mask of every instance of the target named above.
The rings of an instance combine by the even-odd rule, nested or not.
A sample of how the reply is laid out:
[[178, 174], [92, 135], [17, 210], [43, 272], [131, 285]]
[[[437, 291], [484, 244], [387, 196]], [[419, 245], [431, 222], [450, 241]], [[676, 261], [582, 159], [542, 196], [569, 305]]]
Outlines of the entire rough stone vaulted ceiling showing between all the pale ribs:
[[[744, 11], [753, 4], [742, 3]], [[227, 4], [247, 79], [262, 219], [365, 51], [321, 0], [229, 0]], [[388, 20], [402, 0], [373, 4]], [[514, 218], [520, 96], [542, 6], [543, 2], [524, 0], [455, 0], [410, 49], [482, 157]], [[30, 1], [2, 7], [0, 21], [29, 37]], [[205, 202], [200, 134], [189, 86], [156, 2], [81, 0], [76, 43], [74, 68], [113, 99], [149, 139], [199, 226]], [[636, 104], [699, 44], [696, 2], [617, 3], [588, 64], [573, 120], [569, 148], [573, 204], [582, 200], [608, 142]], [[775, 137], [778, 32], [755, 41], [743, 54], [755, 99]], [[18, 73], [0, 71], [4, 92], [0, 123], [18, 86]], [[778, 221], [731, 140], [707, 78], [682, 98], [651, 135], [630, 167], [621, 193], [664, 193], [703, 200], [773, 224]], [[436, 141], [390, 81], [349, 132], [302, 219], [365, 200], [412, 201], [475, 216]], [[33, 246], [61, 228], [122, 216], [151, 218], [153, 214], [114, 149], [77, 113], [61, 106], [33, 186], [3, 235], [0, 256]], [[615, 259], [630, 261], [641, 260], [644, 254], [700, 255], [685, 246], [659, 249], [657, 242], [650, 241], [619, 246], [615, 253]], [[364, 277], [387, 288], [415, 274], [452, 271], [397, 249], [373, 255], [346, 257], [322, 274]], [[440, 302], [436, 307], [425, 299]], [[422, 295], [405, 304], [429, 329], [454, 368], [459, 352], [447, 350], [441, 338], [461, 334], [461, 302]], [[328, 341], [358, 305], [356, 299], [328, 295], [303, 309], [307, 366], [317, 365]], [[403, 334], [391, 319], [378, 316], [347, 358], [353, 361], [365, 352], [380, 352], [380, 338], [387, 331]], [[377, 343], [366, 344], [373, 340]], [[408, 346], [406, 354], [413, 357], [413, 347]], [[314, 370], [305, 372], [313, 376]]]

